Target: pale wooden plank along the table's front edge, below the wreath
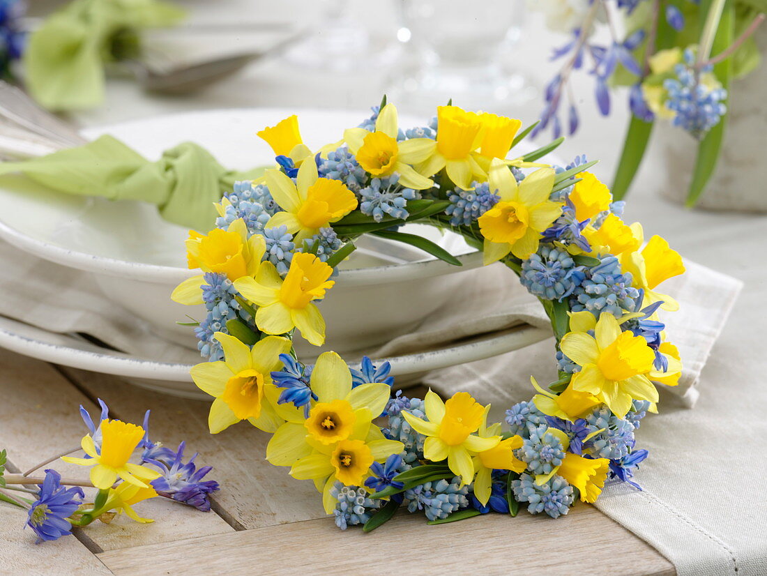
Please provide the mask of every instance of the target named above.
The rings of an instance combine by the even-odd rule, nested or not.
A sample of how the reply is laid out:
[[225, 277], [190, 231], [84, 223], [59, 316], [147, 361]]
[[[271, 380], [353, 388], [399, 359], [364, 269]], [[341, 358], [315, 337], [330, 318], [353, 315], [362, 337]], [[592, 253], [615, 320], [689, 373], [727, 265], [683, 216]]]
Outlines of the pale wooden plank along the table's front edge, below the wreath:
[[330, 518], [104, 552], [118, 576], [166, 574], [674, 574], [653, 548], [588, 505], [558, 520], [490, 514], [426, 525], [401, 514], [375, 532]]

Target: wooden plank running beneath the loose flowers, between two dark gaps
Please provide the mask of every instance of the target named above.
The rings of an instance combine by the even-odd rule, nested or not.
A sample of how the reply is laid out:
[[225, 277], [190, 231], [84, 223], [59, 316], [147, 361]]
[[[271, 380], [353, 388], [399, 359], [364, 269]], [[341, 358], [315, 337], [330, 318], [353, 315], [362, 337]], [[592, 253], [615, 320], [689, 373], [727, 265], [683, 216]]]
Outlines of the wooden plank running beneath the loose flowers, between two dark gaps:
[[[9, 459], [21, 470], [79, 445], [87, 432], [78, 411], [80, 404], [97, 415], [94, 403], [50, 364], [9, 351], [0, 351], [0, 398], [0, 448], [8, 449]], [[120, 416], [120, 406], [114, 407], [114, 415]], [[131, 421], [140, 423], [141, 419]], [[87, 469], [81, 466], [58, 461], [47, 467], [64, 476], [87, 479]], [[92, 499], [94, 491], [86, 492]], [[158, 522], [137, 524], [120, 516], [110, 525], [94, 522], [83, 534], [96, 548], [112, 550], [234, 530], [215, 512], [198, 512], [166, 499], [142, 502], [136, 509]]]

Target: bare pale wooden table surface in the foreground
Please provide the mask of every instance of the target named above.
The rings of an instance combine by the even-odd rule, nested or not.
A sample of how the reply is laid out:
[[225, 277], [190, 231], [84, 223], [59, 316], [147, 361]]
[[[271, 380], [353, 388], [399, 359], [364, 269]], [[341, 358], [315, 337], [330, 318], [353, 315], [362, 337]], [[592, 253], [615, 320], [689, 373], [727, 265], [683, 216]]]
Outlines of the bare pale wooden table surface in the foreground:
[[[189, 455], [198, 451], [222, 487], [212, 511], [157, 498], [136, 506], [152, 524], [121, 515], [35, 545], [21, 529], [26, 512], [3, 505], [0, 574], [675, 574], [650, 545], [582, 503], [556, 521], [522, 511], [428, 526], [423, 515], [400, 513], [370, 534], [342, 532], [311, 482], [268, 465], [268, 436], [252, 426], [212, 436], [208, 403], [0, 350], [0, 449], [10, 471], [77, 446], [85, 432], [78, 406], [96, 416], [97, 398], [133, 423], [150, 408], [153, 439], [186, 440]], [[54, 467], [86, 477], [78, 466]]]

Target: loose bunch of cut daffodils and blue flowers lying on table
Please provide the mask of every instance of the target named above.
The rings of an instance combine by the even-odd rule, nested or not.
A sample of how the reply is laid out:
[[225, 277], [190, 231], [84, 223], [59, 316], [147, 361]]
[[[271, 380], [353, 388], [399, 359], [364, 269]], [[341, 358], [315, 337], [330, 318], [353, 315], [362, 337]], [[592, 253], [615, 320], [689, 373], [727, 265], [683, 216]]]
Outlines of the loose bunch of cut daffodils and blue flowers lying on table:
[[[80, 416], [88, 433], [81, 441], [85, 458], [64, 455], [44, 459], [24, 474], [8, 474], [5, 470], [6, 450], [0, 449], [0, 502], [28, 510], [27, 526], [41, 541], [58, 540], [71, 535], [71, 528], [85, 528], [96, 520], [106, 524], [120, 522], [125, 515], [135, 522], [147, 524], [151, 518], [139, 515], [134, 506], [148, 499], [163, 497], [210, 511], [209, 495], [219, 490], [215, 480], [204, 480], [211, 466], [197, 468], [195, 454], [184, 462], [184, 448], [178, 450], [153, 441], [149, 435], [147, 410], [143, 426], [114, 420], [109, 407], [98, 399], [100, 419], [94, 423], [91, 414], [80, 406]], [[54, 469], [45, 469], [44, 477], [35, 472], [58, 459], [77, 469], [90, 468], [90, 480], [78, 479], [77, 472], [62, 479]], [[58, 467], [58, 466], [57, 466]], [[38, 489], [27, 488], [37, 485]], [[22, 494], [19, 494], [21, 492]], [[35, 494], [36, 499], [29, 499]]]

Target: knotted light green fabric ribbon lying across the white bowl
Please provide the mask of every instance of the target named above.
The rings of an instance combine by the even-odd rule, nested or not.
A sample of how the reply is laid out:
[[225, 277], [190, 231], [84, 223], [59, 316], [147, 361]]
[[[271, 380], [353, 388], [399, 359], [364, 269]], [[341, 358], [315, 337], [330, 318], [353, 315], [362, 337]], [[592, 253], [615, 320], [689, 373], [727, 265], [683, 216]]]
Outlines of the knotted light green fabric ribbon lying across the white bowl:
[[[263, 169], [226, 170], [192, 142], [166, 150], [160, 160], [150, 162], [117, 138], [105, 135], [48, 156], [0, 163], [0, 176], [16, 172], [62, 193], [152, 202], [169, 222], [206, 233], [217, 216], [213, 202], [219, 202], [235, 180], [255, 179]], [[24, 192], [18, 179], [0, 178], [0, 186]]]

